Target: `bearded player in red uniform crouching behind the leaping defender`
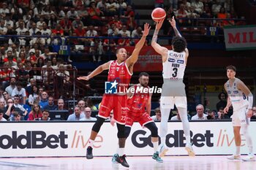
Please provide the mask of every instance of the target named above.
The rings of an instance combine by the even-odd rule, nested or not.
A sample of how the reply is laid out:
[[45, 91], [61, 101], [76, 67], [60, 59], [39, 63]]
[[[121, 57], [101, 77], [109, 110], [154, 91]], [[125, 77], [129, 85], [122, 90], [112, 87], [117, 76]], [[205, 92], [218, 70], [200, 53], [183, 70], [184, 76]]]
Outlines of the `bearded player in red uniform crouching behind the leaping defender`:
[[127, 97], [127, 118], [125, 122], [125, 136], [128, 137], [134, 122], [140, 123], [151, 131], [151, 142], [154, 147], [152, 158], [157, 162], [162, 163], [159, 157], [158, 148], [158, 132], [157, 125], [150, 117], [151, 112], [151, 93], [148, 87], [149, 75], [146, 72], [141, 72], [139, 75], [139, 84], [129, 88]]

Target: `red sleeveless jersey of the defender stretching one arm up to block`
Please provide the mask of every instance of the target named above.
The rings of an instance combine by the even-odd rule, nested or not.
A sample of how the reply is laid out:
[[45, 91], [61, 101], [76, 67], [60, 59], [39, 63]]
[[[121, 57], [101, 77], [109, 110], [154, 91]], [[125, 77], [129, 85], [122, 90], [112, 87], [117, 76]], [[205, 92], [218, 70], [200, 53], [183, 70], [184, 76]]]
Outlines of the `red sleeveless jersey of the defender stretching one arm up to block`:
[[108, 82], [118, 82], [117, 92], [124, 93], [129, 87], [132, 74], [129, 72], [126, 61], [118, 64], [117, 61], [110, 63], [108, 71]]

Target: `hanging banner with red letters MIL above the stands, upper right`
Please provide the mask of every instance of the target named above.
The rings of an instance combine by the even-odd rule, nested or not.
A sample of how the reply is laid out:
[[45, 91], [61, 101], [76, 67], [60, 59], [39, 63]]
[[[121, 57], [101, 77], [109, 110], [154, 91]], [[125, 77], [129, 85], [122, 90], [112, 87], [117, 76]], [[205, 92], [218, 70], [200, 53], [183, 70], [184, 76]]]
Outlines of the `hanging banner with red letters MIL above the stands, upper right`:
[[256, 49], [256, 26], [225, 26], [226, 50]]

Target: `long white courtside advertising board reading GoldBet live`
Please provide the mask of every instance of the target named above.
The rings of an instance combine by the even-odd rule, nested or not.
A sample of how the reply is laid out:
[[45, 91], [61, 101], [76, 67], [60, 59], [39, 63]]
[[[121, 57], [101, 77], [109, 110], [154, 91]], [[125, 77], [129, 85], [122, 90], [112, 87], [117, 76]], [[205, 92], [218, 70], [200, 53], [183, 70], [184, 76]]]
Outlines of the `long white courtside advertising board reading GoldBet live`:
[[[85, 156], [94, 123], [0, 123], [0, 157]], [[256, 147], [252, 122], [249, 128]], [[159, 123], [157, 123], [159, 127]], [[191, 139], [196, 155], [227, 155], [235, 150], [231, 122], [191, 122]], [[94, 142], [95, 156], [113, 155], [118, 144], [117, 129], [104, 123]], [[244, 136], [241, 152], [247, 153]], [[167, 155], [187, 155], [182, 124], [168, 123]], [[127, 155], [152, 155], [150, 131], [138, 123], [127, 139]]]

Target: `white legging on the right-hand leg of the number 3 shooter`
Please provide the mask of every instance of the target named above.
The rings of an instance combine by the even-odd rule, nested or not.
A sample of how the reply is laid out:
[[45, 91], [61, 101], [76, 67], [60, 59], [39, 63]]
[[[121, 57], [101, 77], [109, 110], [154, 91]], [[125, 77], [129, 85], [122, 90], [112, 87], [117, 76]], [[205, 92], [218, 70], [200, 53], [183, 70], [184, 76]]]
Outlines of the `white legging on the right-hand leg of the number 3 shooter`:
[[178, 107], [178, 113], [181, 117], [181, 122], [183, 126], [183, 131], [186, 136], [186, 142], [187, 144], [190, 144], [190, 126], [189, 126], [189, 120], [187, 119], [187, 108], [181, 108]]

